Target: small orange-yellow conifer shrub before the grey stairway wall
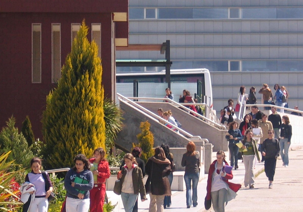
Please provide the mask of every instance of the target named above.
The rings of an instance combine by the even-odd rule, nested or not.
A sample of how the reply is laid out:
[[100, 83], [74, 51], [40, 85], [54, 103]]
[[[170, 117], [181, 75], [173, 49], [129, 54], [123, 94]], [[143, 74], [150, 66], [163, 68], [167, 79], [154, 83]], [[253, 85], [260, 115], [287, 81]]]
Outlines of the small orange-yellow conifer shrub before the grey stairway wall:
[[138, 144], [133, 143], [133, 147], [141, 147], [141, 159], [146, 163], [148, 158], [154, 155], [154, 135], [149, 131], [151, 124], [148, 121], [140, 123], [141, 133], [137, 135]]

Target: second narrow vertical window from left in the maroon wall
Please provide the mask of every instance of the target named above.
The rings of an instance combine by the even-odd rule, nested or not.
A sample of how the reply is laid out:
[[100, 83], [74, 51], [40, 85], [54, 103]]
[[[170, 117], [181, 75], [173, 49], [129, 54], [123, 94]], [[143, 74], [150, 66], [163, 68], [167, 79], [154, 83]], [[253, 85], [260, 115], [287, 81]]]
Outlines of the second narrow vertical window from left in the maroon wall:
[[52, 83], [61, 78], [61, 35], [60, 24], [52, 24]]

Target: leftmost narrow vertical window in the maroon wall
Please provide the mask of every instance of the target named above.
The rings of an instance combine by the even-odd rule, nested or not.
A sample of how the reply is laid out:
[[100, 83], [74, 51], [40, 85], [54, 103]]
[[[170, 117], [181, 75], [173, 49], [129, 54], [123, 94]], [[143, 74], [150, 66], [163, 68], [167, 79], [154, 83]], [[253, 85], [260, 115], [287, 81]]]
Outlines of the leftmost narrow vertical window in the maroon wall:
[[32, 83], [41, 83], [41, 24], [32, 24]]

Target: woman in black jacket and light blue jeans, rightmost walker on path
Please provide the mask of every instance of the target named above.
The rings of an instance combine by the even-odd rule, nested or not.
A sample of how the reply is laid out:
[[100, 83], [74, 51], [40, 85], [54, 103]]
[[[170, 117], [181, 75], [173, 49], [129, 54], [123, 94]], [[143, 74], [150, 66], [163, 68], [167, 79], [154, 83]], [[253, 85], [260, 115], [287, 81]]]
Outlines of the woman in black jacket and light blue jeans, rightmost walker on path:
[[[291, 125], [289, 124], [288, 116], [282, 116], [281, 134], [280, 134], [280, 154], [283, 161], [283, 166], [288, 167], [288, 149], [292, 135]], [[284, 153], [283, 153], [284, 150]]]

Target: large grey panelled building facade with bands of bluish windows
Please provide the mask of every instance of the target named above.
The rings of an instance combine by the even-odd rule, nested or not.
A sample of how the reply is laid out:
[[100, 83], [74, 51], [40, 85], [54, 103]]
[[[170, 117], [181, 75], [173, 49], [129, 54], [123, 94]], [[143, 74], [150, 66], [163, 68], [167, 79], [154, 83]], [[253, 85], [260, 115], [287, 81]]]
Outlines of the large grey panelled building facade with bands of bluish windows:
[[[241, 85], [248, 93], [263, 83], [284, 85], [289, 107], [303, 109], [303, 0], [129, 0], [129, 44], [166, 40], [172, 69], [210, 70], [215, 110], [236, 100]], [[116, 58], [164, 55], [117, 51]]]

